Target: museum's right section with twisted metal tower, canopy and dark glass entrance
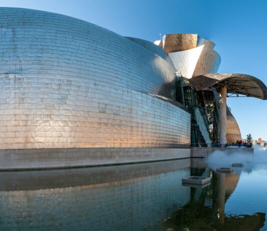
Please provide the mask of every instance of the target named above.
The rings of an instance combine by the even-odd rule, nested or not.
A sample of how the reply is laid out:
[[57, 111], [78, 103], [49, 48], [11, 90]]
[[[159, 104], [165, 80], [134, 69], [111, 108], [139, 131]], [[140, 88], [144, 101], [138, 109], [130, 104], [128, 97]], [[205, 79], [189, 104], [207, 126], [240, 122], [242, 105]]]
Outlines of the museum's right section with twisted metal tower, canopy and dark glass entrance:
[[[220, 56], [213, 50], [215, 44], [197, 34], [166, 34], [162, 40], [154, 41], [154, 44], [162, 47], [168, 53], [177, 74], [187, 78], [184, 81], [184, 92], [185, 105], [191, 113], [191, 144], [206, 145], [210, 142], [209, 140], [212, 140], [213, 143], [225, 143], [226, 140], [232, 142], [235, 139], [240, 139], [240, 130], [236, 120], [230, 112], [226, 116], [226, 103], [218, 104], [219, 113], [214, 100], [214, 93], [220, 92], [220, 97], [223, 100], [219, 102], [226, 102], [227, 93], [230, 94], [229, 96], [242, 94], [267, 99], [267, 87], [264, 83], [248, 74], [216, 73], [220, 64]], [[222, 85], [223, 87], [221, 87]], [[197, 95], [197, 92], [194, 92], [190, 86], [196, 91], [201, 90], [202, 96]], [[206, 88], [212, 88], [214, 92], [205, 92], [204, 89]], [[177, 94], [177, 100], [182, 101], [180, 95]], [[198, 106], [197, 98], [198, 100], [202, 99], [203, 105]], [[203, 119], [206, 115], [201, 112], [203, 108], [207, 112], [208, 126]], [[208, 137], [208, 130], [210, 138]]]

